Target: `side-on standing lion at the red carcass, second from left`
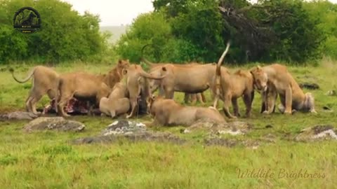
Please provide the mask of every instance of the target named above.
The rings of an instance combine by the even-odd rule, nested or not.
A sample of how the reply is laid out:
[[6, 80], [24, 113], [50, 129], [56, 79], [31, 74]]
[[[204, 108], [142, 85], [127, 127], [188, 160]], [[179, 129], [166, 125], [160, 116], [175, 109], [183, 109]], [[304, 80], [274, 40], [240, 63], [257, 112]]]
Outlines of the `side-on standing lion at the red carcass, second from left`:
[[101, 78], [90, 73], [76, 72], [64, 73], [60, 76], [58, 83], [59, 97], [58, 99], [58, 114], [68, 117], [63, 107], [67, 102], [75, 97], [81, 100], [89, 100], [99, 104], [100, 99], [108, 97], [111, 88], [107, 86]]

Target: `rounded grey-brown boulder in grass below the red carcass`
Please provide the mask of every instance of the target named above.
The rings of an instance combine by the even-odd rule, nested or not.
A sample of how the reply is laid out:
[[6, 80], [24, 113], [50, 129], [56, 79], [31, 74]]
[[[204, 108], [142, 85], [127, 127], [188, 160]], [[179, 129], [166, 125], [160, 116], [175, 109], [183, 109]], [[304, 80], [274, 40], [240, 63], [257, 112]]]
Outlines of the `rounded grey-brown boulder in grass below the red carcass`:
[[65, 120], [62, 117], [39, 117], [31, 122], [27, 123], [23, 127], [26, 132], [32, 132], [34, 130], [58, 130], [58, 131], [74, 131], [80, 132], [84, 130], [86, 126], [83, 123]]

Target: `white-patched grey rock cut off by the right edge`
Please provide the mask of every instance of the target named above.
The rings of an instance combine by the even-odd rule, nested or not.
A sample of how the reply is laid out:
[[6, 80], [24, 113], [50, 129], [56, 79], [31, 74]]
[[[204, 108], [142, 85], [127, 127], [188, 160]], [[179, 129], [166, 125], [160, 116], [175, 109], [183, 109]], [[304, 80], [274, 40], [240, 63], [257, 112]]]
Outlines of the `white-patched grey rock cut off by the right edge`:
[[337, 130], [332, 125], [316, 125], [300, 131], [296, 141], [319, 141], [323, 139], [337, 140]]

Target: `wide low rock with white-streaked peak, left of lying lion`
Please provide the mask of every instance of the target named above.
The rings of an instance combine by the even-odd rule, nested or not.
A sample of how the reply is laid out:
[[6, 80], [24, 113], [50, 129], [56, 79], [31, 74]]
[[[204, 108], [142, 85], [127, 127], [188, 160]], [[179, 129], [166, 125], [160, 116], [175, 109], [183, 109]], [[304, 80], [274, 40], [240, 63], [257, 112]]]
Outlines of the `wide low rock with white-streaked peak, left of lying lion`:
[[100, 135], [95, 137], [85, 137], [71, 141], [72, 144], [91, 144], [91, 143], [114, 143], [121, 139], [128, 141], [168, 141], [173, 144], [183, 144], [184, 139], [180, 139], [168, 132], [152, 132], [147, 130], [143, 123], [136, 123], [129, 120], [117, 120], [107, 126]]

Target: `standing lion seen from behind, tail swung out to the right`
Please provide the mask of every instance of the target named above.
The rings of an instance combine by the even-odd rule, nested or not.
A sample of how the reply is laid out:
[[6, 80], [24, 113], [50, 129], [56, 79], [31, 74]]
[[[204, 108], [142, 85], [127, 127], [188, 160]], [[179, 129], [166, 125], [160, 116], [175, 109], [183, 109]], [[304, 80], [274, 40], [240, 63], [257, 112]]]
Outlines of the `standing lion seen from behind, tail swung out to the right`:
[[[126, 118], [131, 118], [135, 115], [138, 105], [143, 106], [145, 104], [146, 109], [146, 99], [152, 94], [148, 79], [159, 80], [165, 78], [165, 76], [152, 76], [146, 73], [141, 66], [136, 64], [131, 64], [128, 68], [124, 69], [123, 74], [126, 79], [126, 87], [131, 103], [131, 113], [126, 116]], [[140, 104], [138, 104], [139, 98]]]

